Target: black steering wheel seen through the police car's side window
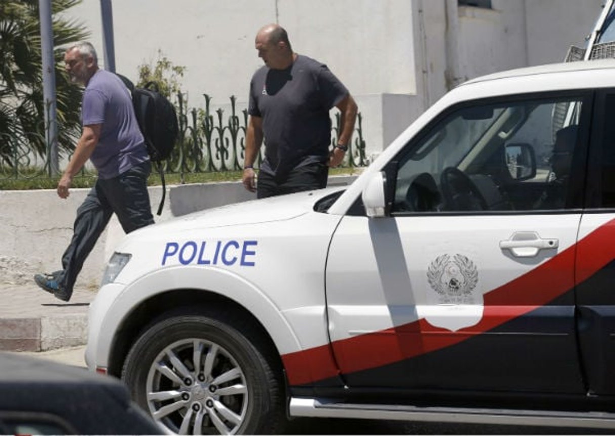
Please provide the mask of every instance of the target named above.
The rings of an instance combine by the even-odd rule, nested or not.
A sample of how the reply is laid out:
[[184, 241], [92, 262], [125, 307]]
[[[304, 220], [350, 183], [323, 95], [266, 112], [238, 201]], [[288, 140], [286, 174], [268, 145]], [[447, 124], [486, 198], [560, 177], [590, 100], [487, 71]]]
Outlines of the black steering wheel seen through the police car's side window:
[[488, 210], [482, 192], [458, 168], [447, 167], [440, 175], [445, 210]]

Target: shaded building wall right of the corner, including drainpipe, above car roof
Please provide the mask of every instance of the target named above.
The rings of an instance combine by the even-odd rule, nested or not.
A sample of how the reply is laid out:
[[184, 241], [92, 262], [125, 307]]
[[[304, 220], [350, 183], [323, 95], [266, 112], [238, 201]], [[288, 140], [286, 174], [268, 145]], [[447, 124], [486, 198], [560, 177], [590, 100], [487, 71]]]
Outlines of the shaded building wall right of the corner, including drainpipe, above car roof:
[[431, 105], [467, 79], [563, 60], [570, 45], [583, 46], [602, 3], [493, 0], [481, 9], [413, 0], [418, 100]]

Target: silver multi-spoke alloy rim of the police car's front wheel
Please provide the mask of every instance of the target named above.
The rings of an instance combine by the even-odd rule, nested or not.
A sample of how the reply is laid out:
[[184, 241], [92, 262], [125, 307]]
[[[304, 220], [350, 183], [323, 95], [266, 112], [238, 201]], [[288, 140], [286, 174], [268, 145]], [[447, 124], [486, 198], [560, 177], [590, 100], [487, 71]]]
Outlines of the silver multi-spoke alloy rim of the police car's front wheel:
[[154, 359], [146, 401], [154, 420], [178, 434], [235, 434], [250, 397], [244, 371], [219, 344], [182, 339]]

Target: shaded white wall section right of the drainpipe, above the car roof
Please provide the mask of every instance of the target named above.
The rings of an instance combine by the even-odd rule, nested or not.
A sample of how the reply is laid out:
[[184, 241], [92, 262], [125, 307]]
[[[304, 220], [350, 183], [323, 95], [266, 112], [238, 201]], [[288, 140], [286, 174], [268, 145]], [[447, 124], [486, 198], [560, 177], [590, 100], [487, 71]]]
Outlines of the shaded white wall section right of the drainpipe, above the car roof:
[[459, 61], [467, 79], [563, 61], [584, 46], [603, 0], [493, 0], [493, 10], [459, 7]]

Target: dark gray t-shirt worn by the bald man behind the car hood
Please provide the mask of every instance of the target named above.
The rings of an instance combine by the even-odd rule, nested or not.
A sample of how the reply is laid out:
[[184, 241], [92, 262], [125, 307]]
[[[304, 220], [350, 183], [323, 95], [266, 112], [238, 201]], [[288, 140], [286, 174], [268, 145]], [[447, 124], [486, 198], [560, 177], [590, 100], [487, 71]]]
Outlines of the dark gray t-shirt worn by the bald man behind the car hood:
[[299, 55], [287, 69], [258, 69], [250, 82], [248, 114], [263, 119], [261, 170], [285, 176], [312, 162], [327, 162], [329, 110], [348, 95], [327, 65]]

